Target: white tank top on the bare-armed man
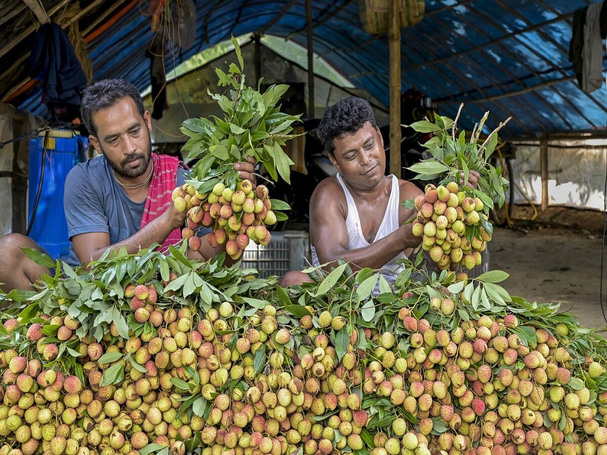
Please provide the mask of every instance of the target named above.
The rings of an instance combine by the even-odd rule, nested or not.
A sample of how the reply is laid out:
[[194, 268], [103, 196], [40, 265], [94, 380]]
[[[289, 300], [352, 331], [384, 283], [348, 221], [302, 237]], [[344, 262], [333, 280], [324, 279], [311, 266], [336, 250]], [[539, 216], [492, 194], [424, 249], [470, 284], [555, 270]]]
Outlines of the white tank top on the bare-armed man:
[[[395, 175], [390, 175], [392, 178], [392, 191], [390, 192], [390, 199], [388, 200], [388, 206], [386, 207], [386, 212], [384, 214], [384, 219], [382, 220], [381, 225], [379, 226], [379, 230], [377, 235], [375, 236], [375, 240], [379, 240], [381, 238], [386, 237], [388, 234], [392, 234], [395, 232], [398, 227], [398, 211], [400, 207], [400, 189], [398, 184], [398, 178]], [[362, 234], [361, 228], [361, 220], [358, 217], [358, 210], [356, 209], [356, 204], [354, 203], [354, 199], [350, 194], [350, 191], [344, 185], [344, 181], [342, 180], [341, 175], [337, 174], [337, 181], [341, 184], [342, 189], [344, 189], [345, 198], [348, 202], [348, 216], [345, 220], [345, 226], [348, 230], [348, 246], [347, 249], [356, 249], [363, 248], [365, 246], [369, 246], [365, 236]], [[316, 254], [316, 248], [311, 246], [312, 252], [312, 263], [314, 266], [320, 265], [318, 260], [318, 256]], [[404, 252], [400, 252], [395, 258], [385, 264], [380, 273], [384, 275], [384, 278], [390, 285], [393, 285], [396, 281], [396, 277], [398, 274], [404, 269], [402, 265], [396, 264], [397, 259], [406, 259], [407, 255]], [[379, 281], [375, 286], [374, 295], [379, 294]]]

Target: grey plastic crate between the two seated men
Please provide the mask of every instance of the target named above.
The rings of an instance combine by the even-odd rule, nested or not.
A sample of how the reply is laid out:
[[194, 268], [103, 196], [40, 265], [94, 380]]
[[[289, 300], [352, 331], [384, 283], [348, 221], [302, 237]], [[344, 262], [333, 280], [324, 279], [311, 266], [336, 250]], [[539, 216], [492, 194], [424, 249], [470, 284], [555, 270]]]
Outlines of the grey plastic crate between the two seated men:
[[301, 270], [310, 260], [310, 235], [304, 231], [272, 232], [266, 246], [253, 242], [243, 252], [243, 267], [254, 268], [260, 276], [282, 277], [288, 271]]

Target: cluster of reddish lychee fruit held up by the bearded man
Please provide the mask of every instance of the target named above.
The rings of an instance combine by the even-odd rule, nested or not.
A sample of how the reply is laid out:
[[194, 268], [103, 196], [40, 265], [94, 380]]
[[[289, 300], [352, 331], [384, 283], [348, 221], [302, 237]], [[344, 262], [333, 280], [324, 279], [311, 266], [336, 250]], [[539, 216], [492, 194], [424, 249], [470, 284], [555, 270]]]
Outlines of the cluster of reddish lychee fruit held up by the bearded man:
[[172, 200], [177, 211], [188, 211], [181, 237], [194, 251], [200, 249], [201, 239], [195, 235], [200, 226], [211, 227], [209, 244], [217, 248], [225, 243], [227, 254], [234, 260], [240, 258], [250, 240], [262, 245], [270, 243], [266, 226], [276, 224], [276, 214], [264, 185], [253, 190], [249, 180], [240, 180], [236, 189], [217, 183], [210, 192], [198, 193], [185, 183], [175, 188]]

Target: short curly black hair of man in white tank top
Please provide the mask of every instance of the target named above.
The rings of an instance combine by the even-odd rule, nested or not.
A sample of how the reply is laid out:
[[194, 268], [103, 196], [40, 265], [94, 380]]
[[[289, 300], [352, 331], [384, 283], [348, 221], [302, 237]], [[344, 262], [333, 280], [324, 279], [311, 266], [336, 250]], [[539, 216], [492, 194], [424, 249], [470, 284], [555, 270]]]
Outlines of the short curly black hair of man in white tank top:
[[320, 141], [325, 149], [333, 155], [334, 139], [341, 137], [344, 133], [356, 133], [367, 122], [374, 128], [376, 127], [375, 114], [368, 101], [358, 98], [358, 96], [342, 98], [325, 110], [318, 126]]

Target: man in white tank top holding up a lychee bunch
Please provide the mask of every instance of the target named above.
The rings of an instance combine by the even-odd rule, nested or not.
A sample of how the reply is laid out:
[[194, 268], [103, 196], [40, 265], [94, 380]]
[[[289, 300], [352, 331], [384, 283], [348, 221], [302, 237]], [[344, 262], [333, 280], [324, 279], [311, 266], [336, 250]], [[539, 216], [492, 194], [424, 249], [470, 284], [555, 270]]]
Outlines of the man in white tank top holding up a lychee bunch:
[[[348, 261], [356, 271], [378, 269], [391, 285], [399, 273], [396, 260], [407, 258], [419, 243], [413, 211], [401, 206], [422, 191], [406, 180], [384, 175], [384, 140], [371, 106], [351, 96], [325, 112], [318, 127], [320, 140], [339, 171], [316, 187], [310, 200], [310, 244], [313, 265]], [[470, 172], [470, 185], [478, 175]], [[310, 282], [303, 272], [289, 272], [283, 286]], [[376, 289], [377, 292], [377, 289]]]

